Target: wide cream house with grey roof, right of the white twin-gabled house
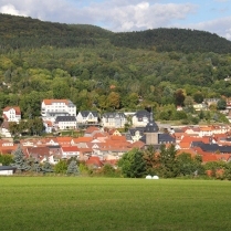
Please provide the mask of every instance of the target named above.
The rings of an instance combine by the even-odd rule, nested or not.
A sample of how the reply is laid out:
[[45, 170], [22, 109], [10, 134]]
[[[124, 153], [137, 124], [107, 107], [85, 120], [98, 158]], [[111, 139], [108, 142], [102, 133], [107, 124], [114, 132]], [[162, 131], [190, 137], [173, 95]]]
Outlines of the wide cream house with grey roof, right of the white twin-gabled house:
[[123, 128], [127, 123], [124, 113], [105, 113], [102, 116], [102, 126], [107, 128]]

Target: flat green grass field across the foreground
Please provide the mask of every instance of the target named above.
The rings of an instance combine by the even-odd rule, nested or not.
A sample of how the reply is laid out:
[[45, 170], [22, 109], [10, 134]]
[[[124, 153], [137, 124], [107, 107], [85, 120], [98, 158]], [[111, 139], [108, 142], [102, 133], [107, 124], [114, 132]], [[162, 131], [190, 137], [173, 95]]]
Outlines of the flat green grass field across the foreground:
[[0, 177], [2, 231], [230, 231], [231, 182]]

